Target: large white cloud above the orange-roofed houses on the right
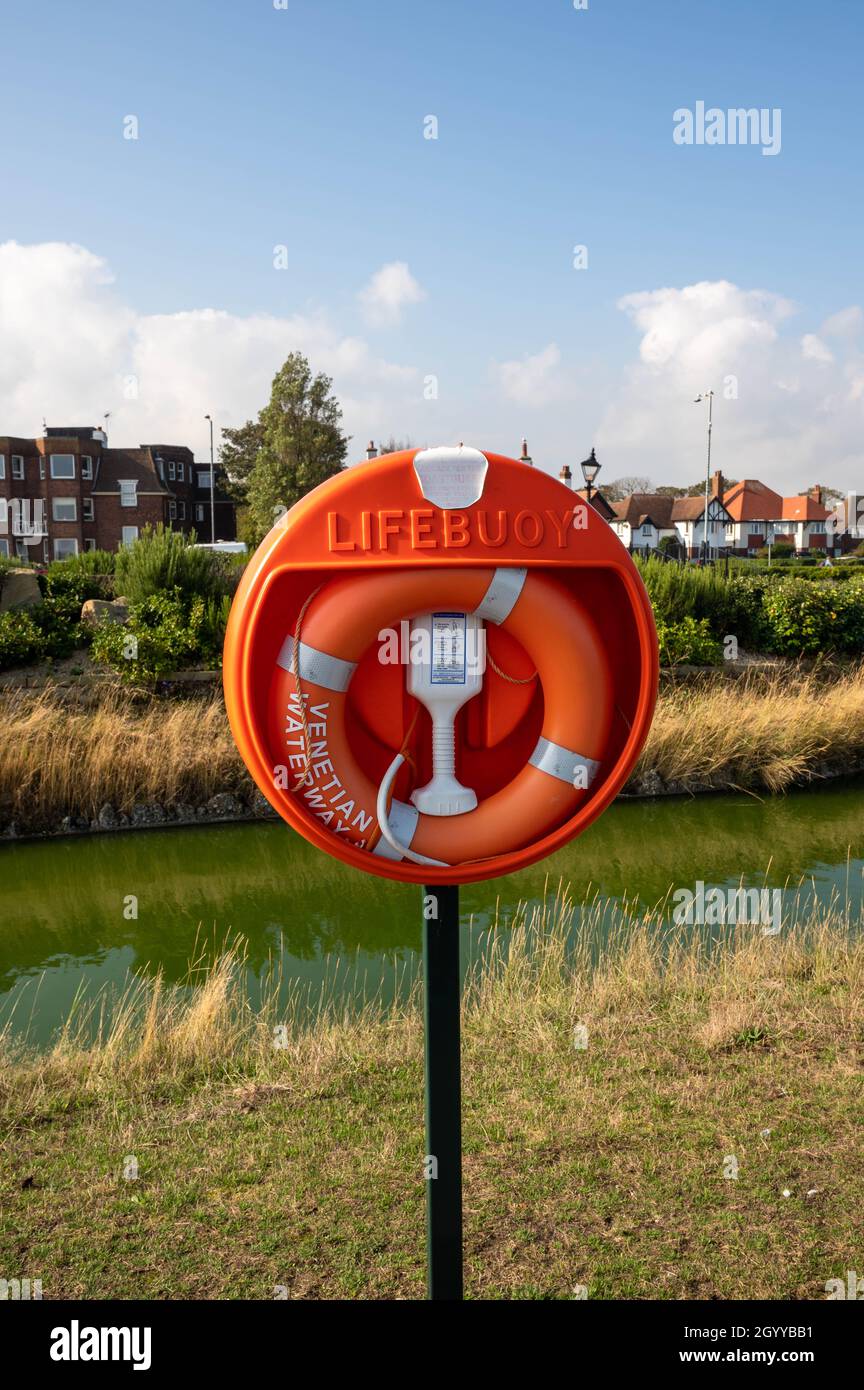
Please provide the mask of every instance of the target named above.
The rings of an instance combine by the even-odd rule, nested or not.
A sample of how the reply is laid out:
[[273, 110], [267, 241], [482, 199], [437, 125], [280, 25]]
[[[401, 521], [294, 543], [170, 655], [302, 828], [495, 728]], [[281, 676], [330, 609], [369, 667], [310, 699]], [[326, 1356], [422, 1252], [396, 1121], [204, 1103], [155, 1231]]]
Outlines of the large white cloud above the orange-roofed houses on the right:
[[[713, 467], [786, 493], [864, 485], [864, 361], [851, 346], [835, 360], [818, 335], [786, 332], [790, 300], [717, 281], [626, 295], [618, 307], [642, 338], [596, 431], [608, 477], [695, 482], [706, 420], [692, 400], [714, 388]], [[835, 317], [849, 325], [849, 311]]]

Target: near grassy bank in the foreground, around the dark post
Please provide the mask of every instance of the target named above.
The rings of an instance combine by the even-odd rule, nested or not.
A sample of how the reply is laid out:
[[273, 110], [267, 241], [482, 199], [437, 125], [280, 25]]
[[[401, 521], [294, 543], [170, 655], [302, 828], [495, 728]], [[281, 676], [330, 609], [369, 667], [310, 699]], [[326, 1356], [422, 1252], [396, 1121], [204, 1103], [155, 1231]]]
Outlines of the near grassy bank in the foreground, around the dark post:
[[[465, 986], [470, 1295], [824, 1298], [864, 1259], [864, 940], [828, 913], [713, 948], [621, 919], [601, 945], [597, 917], [568, 954], [570, 912], [495, 929]], [[3, 1040], [6, 1277], [422, 1297], [418, 997], [253, 1013], [239, 965], [97, 1001], [46, 1055]]]

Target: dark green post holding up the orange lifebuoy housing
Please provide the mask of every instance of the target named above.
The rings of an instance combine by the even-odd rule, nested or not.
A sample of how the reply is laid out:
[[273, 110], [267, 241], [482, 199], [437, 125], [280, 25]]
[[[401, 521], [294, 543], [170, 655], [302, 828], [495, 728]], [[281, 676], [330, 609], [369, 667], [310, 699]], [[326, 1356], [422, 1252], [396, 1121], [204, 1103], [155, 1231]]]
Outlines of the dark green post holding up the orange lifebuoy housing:
[[463, 1297], [458, 888], [424, 888], [426, 1269], [429, 1298]]

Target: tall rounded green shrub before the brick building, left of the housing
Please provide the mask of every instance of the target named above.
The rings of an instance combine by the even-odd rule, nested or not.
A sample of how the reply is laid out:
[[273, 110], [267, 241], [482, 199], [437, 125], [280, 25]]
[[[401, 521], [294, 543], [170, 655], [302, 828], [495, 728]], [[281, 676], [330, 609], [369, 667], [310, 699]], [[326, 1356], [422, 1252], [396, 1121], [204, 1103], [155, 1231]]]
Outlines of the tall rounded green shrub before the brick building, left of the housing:
[[178, 591], [185, 599], [221, 598], [225, 571], [210, 550], [194, 548], [194, 534], [144, 527], [138, 541], [117, 555], [115, 591], [132, 603]]

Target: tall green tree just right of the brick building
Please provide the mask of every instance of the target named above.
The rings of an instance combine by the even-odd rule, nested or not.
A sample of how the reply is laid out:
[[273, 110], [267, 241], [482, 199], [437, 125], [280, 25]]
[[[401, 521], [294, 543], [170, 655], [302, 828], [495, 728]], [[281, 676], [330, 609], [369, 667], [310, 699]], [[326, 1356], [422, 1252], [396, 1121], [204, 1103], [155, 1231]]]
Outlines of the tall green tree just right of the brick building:
[[243, 441], [235, 461], [244, 467], [251, 457], [246, 489], [251, 539], [269, 531], [282, 507], [292, 507], [344, 467], [349, 436], [332, 385], [324, 373], [313, 375], [303, 353], [293, 352], [274, 377], [257, 424], [249, 421], [236, 431]]

